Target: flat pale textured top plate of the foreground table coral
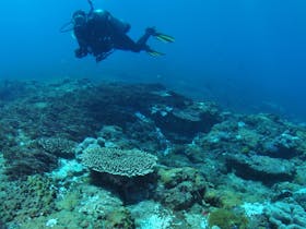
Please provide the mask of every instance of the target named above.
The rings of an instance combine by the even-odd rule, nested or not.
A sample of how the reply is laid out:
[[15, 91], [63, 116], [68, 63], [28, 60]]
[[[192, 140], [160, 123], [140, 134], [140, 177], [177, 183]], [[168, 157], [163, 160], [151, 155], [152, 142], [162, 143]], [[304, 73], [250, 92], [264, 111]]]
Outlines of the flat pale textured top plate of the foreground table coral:
[[141, 150], [99, 146], [87, 147], [82, 155], [82, 164], [92, 170], [129, 178], [153, 172], [156, 160], [154, 155]]

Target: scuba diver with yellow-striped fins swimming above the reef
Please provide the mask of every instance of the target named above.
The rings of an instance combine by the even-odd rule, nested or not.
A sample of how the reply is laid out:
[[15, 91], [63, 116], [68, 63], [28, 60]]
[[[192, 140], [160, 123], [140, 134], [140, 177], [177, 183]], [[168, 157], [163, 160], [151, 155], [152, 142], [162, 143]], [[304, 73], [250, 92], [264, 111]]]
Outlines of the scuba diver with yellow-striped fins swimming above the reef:
[[[76, 58], [93, 55], [96, 62], [99, 62], [113, 53], [116, 49], [133, 52], [146, 51], [151, 56], [162, 56], [162, 52], [153, 50], [146, 45], [148, 39], [153, 36], [165, 43], [173, 43], [172, 36], [156, 32], [154, 27], [149, 27], [137, 40], [132, 40], [127, 33], [130, 25], [104, 10], [94, 10], [91, 0], [89, 13], [78, 10], [72, 15], [73, 33], [76, 37], [79, 48], [75, 50]], [[64, 31], [63, 31], [64, 32]]]

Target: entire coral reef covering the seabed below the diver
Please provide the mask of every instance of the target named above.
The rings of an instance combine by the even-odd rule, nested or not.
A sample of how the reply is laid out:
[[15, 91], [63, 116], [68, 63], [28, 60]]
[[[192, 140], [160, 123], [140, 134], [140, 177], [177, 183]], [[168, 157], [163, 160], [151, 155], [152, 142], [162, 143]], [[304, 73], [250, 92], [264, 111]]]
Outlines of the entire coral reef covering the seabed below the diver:
[[158, 84], [0, 97], [0, 228], [305, 228], [305, 125]]

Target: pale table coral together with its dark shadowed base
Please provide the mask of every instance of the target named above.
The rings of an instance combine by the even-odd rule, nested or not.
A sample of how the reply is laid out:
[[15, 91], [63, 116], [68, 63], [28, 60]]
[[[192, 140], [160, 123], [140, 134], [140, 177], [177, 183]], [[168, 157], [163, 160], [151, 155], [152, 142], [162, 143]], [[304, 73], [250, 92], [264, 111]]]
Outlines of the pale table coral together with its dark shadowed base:
[[[157, 157], [138, 149], [101, 147], [96, 141], [81, 144], [82, 164], [91, 169], [92, 183], [113, 189], [125, 203], [152, 195]], [[84, 145], [85, 146], [84, 148]], [[79, 148], [79, 147], [78, 147]]]

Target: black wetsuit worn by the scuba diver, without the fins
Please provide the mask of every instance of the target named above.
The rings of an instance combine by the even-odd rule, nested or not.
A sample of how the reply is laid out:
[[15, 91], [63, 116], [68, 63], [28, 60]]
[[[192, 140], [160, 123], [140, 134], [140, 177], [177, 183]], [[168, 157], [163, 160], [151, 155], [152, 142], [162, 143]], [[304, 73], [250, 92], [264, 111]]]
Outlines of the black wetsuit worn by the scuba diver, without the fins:
[[109, 12], [93, 11], [86, 17], [84, 25], [73, 28], [80, 46], [75, 50], [78, 58], [92, 53], [96, 57], [96, 61], [101, 61], [115, 49], [134, 52], [150, 50], [145, 43], [153, 34], [152, 29], [146, 29], [145, 34], [136, 43], [127, 35], [130, 25], [115, 19]]

